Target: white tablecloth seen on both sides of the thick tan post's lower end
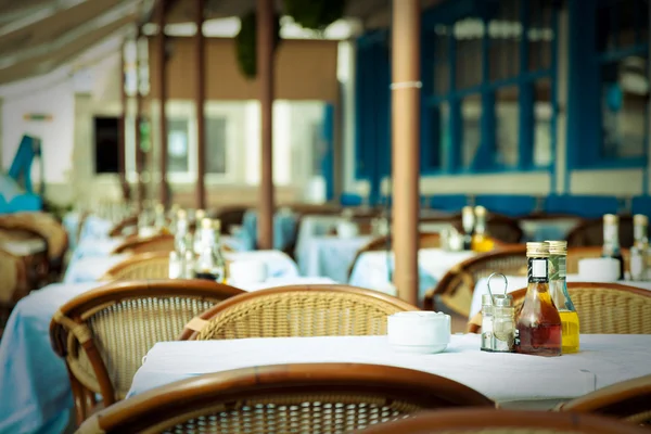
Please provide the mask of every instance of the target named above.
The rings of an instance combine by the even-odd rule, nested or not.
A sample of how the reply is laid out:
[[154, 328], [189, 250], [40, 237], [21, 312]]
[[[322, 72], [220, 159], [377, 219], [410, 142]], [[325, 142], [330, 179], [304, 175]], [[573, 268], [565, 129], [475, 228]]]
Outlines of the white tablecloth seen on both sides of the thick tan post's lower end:
[[[442, 248], [421, 248], [418, 252], [420, 294], [436, 285], [438, 280], [457, 264], [474, 256], [473, 252], [446, 252]], [[363, 253], [353, 269], [349, 283], [354, 286], [387, 292], [388, 267], [393, 275], [394, 255], [387, 252]], [[396, 295], [396, 294], [391, 294]]]

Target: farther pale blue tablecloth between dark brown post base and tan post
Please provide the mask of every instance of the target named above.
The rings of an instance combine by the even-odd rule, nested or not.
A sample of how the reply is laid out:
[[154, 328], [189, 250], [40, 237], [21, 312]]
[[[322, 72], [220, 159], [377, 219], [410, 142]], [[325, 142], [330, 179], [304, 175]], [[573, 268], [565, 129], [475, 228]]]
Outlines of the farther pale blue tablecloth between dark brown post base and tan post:
[[328, 277], [337, 282], [348, 281], [348, 270], [355, 255], [373, 237], [312, 237], [306, 241], [305, 256], [297, 256], [301, 276]]

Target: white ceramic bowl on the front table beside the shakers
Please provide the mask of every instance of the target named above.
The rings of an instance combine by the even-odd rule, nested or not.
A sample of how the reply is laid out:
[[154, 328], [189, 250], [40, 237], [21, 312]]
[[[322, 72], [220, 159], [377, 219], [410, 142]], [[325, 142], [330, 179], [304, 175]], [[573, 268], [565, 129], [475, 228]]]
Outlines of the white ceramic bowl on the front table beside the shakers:
[[441, 353], [450, 343], [450, 316], [433, 311], [405, 311], [387, 317], [387, 337], [399, 353]]

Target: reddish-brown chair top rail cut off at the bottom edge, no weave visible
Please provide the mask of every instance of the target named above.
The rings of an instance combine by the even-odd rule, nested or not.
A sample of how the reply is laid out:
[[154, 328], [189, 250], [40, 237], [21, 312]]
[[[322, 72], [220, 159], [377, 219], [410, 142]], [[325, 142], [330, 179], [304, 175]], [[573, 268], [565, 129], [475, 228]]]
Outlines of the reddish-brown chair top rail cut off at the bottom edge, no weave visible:
[[446, 409], [359, 431], [363, 434], [643, 434], [647, 430], [595, 414]]

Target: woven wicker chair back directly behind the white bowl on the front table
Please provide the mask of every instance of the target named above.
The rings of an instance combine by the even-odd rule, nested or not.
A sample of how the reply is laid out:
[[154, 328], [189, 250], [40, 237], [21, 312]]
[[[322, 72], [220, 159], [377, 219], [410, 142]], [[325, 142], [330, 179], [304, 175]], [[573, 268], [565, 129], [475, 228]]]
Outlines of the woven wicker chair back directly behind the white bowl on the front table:
[[188, 324], [182, 340], [386, 334], [386, 316], [417, 307], [346, 285], [261, 290], [214, 306]]

